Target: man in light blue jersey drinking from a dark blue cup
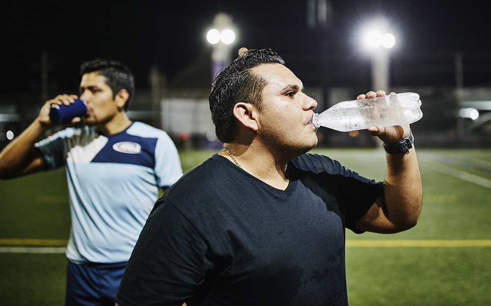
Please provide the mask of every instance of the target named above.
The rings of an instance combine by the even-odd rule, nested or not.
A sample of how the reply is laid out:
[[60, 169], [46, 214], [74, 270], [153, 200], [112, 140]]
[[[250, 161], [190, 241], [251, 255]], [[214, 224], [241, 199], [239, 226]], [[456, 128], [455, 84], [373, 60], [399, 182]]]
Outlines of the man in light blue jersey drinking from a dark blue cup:
[[[72, 226], [66, 256], [66, 305], [114, 305], [119, 282], [159, 188], [182, 175], [177, 149], [157, 128], [131, 121], [126, 110], [135, 91], [132, 72], [116, 61], [81, 66], [80, 99], [87, 111], [64, 130], [39, 141], [54, 126], [52, 104], [0, 153], [0, 178], [65, 166]], [[38, 142], [39, 141], [39, 142]]]

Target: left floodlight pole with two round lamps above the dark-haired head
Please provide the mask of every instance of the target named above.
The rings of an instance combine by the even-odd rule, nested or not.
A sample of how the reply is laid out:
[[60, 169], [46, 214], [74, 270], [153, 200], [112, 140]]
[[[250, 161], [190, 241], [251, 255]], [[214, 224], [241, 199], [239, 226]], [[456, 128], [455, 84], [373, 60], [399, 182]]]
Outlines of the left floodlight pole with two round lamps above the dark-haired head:
[[207, 41], [212, 44], [212, 81], [218, 72], [230, 63], [232, 43], [235, 41], [232, 19], [225, 13], [218, 13], [213, 21], [213, 29], [206, 34]]

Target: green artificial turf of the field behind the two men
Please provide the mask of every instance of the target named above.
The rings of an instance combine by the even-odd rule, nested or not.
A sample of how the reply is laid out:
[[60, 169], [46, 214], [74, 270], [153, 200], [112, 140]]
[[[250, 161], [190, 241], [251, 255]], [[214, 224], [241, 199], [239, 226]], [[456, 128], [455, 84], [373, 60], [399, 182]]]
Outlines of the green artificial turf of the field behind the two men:
[[[216, 152], [179, 152], [183, 170]], [[383, 180], [381, 149], [313, 152]], [[424, 193], [418, 225], [393, 235], [357, 235], [348, 230], [347, 240], [490, 240], [491, 152], [417, 152]], [[0, 239], [67, 239], [70, 214], [65, 180], [61, 169], [0, 181]], [[0, 253], [0, 305], [63, 305], [66, 263], [63, 254]], [[491, 305], [490, 264], [491, 247], [349, 246], [350, 305]]]

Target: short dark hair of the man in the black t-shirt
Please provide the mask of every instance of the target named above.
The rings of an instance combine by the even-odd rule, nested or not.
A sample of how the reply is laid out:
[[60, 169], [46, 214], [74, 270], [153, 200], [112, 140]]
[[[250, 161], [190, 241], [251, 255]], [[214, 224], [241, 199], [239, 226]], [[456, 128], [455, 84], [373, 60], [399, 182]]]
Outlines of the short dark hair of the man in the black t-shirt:
[[215, 78], [209, 101], [219, 141], [229, 142], [235, 137], [236, 118], [233, 111], [237, 103], [250, 103], [261, 109], [261, 91], [267, 82], [261, 76], [253, 74], [251, 69], [269, 63], [285, 65], [283, 59], [272, 49], [250, 49], [239, 55]]

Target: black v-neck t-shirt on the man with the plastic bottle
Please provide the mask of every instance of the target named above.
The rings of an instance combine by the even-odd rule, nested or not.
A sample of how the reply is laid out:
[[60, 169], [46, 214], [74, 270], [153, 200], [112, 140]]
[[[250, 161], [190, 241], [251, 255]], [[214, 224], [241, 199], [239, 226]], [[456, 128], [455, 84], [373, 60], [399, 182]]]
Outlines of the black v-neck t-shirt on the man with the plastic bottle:
[[315, 154], [288, 169], [285, 190], [219, 155], [184, 175], [150, 214], [116, 302], [348, 305], [345, 228], [358, 232], [382, 182]]

